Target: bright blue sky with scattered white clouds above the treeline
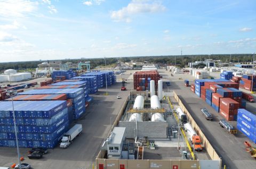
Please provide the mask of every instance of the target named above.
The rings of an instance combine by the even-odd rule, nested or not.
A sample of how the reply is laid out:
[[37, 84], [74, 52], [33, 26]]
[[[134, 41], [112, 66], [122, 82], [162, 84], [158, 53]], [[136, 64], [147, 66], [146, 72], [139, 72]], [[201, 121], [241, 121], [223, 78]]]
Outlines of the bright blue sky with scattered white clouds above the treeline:
[[0, 62], [256, 52], [255, 0], [0, 0]]

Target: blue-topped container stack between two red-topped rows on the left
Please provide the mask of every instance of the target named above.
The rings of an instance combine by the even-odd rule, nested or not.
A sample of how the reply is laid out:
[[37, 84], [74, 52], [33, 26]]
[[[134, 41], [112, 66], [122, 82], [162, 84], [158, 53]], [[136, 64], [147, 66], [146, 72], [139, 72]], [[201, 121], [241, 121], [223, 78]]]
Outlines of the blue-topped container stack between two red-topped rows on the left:
[[66, 94], [67, 99], [72, 100], [73, 119], [77, 120], [85, 113], [85, 98], [83, 88], [67, 89], [34, 89], [21, 92], [18, 95], [45, 95], [45, 94]]

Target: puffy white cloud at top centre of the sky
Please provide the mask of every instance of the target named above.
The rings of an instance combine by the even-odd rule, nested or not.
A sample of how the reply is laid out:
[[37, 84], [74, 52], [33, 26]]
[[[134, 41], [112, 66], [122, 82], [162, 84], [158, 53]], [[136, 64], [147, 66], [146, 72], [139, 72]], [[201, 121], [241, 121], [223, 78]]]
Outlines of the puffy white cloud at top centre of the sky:
[[131, 16], [139, 13], [156, 13], [165, 11], [165, 7], [157, 2], [147, 3], [148, 1], [132, 1], [126, 7], [118, 11], [111, 11], [110, 16], [116, 22], [131, 22]]

